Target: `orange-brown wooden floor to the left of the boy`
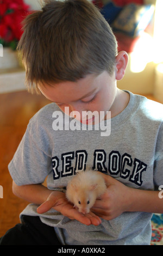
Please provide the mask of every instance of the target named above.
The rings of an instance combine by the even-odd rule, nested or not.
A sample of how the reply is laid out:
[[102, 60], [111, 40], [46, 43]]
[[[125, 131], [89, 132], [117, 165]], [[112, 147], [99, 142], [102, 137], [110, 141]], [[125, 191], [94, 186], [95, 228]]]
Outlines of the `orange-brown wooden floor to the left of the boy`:
[[[147, 97], [153, 99], [151, 95]], [[3, 187], [3, 198], [0, 198], [0, 237], [19, 222], [19, 214], [28, 204], [12, 194], [8, 163], [26, 131], [29, 119], [47, 103], [49, 101], [45, 97], [27, 92], [0, 94], [0, 185]]]

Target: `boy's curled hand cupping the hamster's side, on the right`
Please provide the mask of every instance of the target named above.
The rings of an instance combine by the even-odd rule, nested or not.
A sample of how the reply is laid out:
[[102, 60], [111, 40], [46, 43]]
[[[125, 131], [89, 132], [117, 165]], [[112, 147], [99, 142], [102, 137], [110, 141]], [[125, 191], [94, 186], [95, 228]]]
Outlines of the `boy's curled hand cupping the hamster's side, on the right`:
[[127, 187], [109, 175], [103, 173], [101, 175], [105, 179], [106, 192], [96, 200], [91, 211], [109, 221], [121, 215], [122, 212], [128, 211], [132, 203], [130, 200], [130, 190], [132, 188]]

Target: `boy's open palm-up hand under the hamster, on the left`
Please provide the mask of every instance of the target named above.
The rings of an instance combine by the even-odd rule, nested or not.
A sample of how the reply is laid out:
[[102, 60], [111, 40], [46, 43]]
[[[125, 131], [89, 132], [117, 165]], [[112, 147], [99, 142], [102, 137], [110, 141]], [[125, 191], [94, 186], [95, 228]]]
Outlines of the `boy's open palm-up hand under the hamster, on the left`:
[[73, 205], [67, 201], [65, 193], [59, 191], [53, 191], [49, 194], [47, 200], [37, 208], [37, 212], [43, 214], [51, 208], [61, 212], [62, 215], [71, 220], [77, 220], [85, 225], [99, 225], [101, 223], [101, 219], [93, 214], [93, 212], [89, 212], [89, 214], [86, 215], [78, 212], [78, 210], [73, 208]]

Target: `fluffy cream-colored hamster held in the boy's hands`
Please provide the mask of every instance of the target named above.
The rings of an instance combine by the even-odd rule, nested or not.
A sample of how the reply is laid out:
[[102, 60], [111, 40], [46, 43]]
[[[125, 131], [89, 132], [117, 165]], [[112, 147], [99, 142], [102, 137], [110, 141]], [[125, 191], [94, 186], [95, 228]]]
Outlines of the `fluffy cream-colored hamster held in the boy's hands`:
[[69, 202], [78, 208], [79, 212], [87, 214], [106, 189], [102, 175], [95, 170], [78, 172], [68, 182], [66, 197]]

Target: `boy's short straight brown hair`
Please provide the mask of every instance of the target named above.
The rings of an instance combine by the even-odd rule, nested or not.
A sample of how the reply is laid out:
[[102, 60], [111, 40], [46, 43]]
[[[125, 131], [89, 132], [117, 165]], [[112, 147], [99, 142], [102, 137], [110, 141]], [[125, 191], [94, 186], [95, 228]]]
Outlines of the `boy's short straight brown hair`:
[[112, 74], [117, 42], [108, 22], [87, 0], [44, 1], [24, 20], [18, 43], [30, 92], [38, 83], [77, 81], [88, 74]]

